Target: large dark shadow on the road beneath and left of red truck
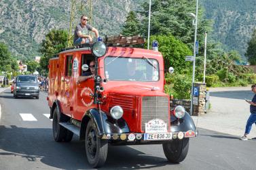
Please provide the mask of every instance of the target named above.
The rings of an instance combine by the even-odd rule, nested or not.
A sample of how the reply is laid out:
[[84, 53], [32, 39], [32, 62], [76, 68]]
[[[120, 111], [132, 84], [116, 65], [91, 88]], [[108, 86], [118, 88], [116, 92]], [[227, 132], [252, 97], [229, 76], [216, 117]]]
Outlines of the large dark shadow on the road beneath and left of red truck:
[[[0, 156], [24, 158], [24, 163], [41, 161], [58, 169], [92, 169], [87, 162], [84, 141], [55, 142], [52, 129], [27, 129], [0, 125]], [[150, 146], [149, 146], [150, 147]], [[100, 169], [150, 169], [170, 165], [166, 158], [151, 156], [128, 146], [109, 146], [107, 162]]]

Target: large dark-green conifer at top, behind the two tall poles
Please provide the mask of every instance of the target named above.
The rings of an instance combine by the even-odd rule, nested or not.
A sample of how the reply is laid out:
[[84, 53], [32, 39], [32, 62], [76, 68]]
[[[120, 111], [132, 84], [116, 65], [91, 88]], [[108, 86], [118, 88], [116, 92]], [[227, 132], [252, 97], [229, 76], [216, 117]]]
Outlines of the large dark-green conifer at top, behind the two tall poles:
[[[147, 35], [149, 4], [143, 4], [141, 35]], [[201, 41], [204, 32], [211, 32], [211, 21], [202, 18], [203, 9], [198, 10], [198, 39]], [[187, 13], [196, 13], [196, 1], [156, 0], [151, 5], [150, 35], [172, 34], [183, 43], [194, 42], [194, 26]]]

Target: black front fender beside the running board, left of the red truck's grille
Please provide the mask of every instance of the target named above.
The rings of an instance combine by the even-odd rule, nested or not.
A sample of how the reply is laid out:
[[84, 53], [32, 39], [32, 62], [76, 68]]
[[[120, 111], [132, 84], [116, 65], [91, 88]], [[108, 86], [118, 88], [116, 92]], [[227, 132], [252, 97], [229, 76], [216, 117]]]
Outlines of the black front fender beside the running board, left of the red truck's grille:
[[105, 112], [101, 111], [102, 121], [100, 118], [100, 112], [97, 108], [92, 108], [84, 114], [84, 118], [81, 123], [80, 136], [85, 136], [86, 126], [88, 121], [92, 119], [96, 126], [98, 135], [112, 134], [112, 133], [129, 133], [130, 129], [124, 121], [124, 119], [115, 120], [108, 116]]

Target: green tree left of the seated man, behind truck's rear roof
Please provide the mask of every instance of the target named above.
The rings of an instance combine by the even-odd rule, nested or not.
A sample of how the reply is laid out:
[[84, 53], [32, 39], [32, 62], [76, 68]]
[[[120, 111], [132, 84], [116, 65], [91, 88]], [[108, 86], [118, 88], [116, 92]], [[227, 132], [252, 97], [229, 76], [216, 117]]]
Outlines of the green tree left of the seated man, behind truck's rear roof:
[[40, 52], [43, 57], [40, 60], [40, 66], [43, 72], [48, 72], [48, 62], [50, 58], [53, 58], [55, 54], [58, 54], [60, 49], [65, 48], [67, 44], [68, 33], [67, 30], [51, 30], [45, 36], [45, 39], [41, 43]]

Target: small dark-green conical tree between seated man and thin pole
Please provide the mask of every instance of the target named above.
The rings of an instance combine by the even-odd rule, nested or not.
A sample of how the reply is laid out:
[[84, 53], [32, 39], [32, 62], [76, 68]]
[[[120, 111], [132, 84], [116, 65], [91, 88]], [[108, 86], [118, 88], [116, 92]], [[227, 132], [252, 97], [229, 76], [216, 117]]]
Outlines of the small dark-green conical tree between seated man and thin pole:
[[126, 22], [122, 28], [122, 35], [133, 36], [139, 34], [139, 20], [136, 17], [136, 13], [131, 11], [126, 17]]

